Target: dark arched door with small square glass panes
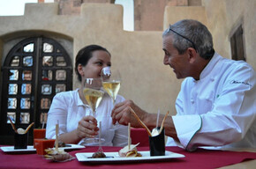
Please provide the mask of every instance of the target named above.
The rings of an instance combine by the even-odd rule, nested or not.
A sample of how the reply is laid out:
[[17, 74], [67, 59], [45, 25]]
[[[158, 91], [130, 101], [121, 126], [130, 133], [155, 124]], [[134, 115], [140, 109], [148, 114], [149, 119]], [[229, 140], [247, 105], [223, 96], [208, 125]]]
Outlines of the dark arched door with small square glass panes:
[[[56, 40], [33, 37], [11, 48], [2, 70], [0, 142], [12, 144], [8, 117], [16, 127], [34, 122], [34, 128], [40, 128], [56, 93], [72, 90], [72, 62]], [[29, 136], [32, 143], [32, 129]]]

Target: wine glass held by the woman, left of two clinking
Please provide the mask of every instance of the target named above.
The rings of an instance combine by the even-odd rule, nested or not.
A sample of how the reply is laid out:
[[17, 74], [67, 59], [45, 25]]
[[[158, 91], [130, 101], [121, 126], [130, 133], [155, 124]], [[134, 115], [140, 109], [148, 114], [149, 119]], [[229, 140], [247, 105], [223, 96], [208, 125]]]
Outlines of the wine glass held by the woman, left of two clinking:
[[[102, 101], [104, 91], [102, 89], [102, 78], [86, 78], [83, 84], [83, 95], [87, 100], [87, 104], [91, 108], [90, 114], [95, 117], [97, 107]], [[85, 138], [83, 143], [99, 143], [100, 138]], [[101, 138], [101, 143], [104, 139]]]

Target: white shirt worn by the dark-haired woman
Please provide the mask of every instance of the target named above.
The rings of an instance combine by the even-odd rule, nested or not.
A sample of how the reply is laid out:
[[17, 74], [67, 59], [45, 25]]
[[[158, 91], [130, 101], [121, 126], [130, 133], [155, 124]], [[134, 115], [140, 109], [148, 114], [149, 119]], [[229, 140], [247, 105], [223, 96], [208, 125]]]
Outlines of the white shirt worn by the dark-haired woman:
[[[116, 103], [124, 101], [124, 97], [117, 95]], [[118, 124], [117, 128], [110, 129], [113, 109], [112, 99], [107, 93], [97, 107], [95, 118], [102, 121], [102, 138], [104, 146], [125, 146], [128, 141], [128, 128]], [[90, 114], [90, 107], [79, 98], [79, 89], [70, 92], [60, 92], [54, 97], [49, 108], [46, 137], [56, 138], [56, 122], [59, 121], [59, 135], [71, 132], [78, 128], [79, 121], [83, 116]], [[80, 141], [79, 143], [82, 143]], [[87, 144], [93, 145], [93, 144]]]

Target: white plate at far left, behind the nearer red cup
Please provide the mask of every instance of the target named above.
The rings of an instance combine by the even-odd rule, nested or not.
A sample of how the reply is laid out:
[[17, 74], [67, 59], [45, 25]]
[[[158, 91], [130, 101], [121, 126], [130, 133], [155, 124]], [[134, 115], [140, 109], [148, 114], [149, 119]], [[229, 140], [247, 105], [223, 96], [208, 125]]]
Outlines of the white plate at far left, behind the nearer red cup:
[[[68, 145], [67, 147], [60, 147], [59, 149], [64, 149], [65, 151], [71, 151], [74, 149], [85, 148], [84, 145], [78, 145], [78, 144], [67, 144], [67, 145]], [[0, 149], [8, 153], [32, 153], [36, 151], [33, 145], [27, 145], [26, 149], [14, 149], [14, 146], [0, 147]]]

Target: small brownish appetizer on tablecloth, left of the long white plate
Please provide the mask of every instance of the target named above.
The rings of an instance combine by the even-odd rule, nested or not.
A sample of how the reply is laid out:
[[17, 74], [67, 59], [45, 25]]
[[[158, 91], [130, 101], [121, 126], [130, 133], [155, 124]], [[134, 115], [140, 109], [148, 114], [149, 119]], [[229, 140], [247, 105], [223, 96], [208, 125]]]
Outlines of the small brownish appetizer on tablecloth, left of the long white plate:
[[72, 155], [65, 152], [64, 150], [56, 151], [55, 148], [51, 148], [51, 149], [49, 148], [49, 149], [46, 149], [45, 151], [47, 154], [44, 155], [44, 158], [51, 159], [53, 161], [64, 162], [64, 161], [69, 161], [74, 159]]

